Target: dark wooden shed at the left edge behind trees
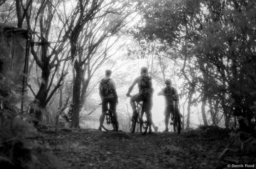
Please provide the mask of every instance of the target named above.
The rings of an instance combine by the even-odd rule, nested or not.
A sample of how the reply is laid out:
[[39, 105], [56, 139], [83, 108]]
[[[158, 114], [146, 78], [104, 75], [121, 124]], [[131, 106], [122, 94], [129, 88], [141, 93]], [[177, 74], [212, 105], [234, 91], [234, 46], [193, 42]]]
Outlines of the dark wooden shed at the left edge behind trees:
[[[24, 87], [30, 59], [30, 43], [36, 32], [0, 23], [1, 74]], [[25, 78], [25, 79], [24, 79]]]

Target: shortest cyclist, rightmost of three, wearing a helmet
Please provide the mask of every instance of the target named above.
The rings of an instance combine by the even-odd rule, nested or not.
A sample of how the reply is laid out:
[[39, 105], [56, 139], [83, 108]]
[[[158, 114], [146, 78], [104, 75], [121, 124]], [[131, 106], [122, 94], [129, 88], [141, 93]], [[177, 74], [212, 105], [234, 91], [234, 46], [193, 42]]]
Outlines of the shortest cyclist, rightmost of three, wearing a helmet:
[[[168, 132], [168, 123], [169, 123], [170, 113], [172, 113], [172, 120], [174, 118], [174, 97], [172, 95], [175, 95], [176, 104], [177, 104], [175, 106], [177, 107], [179, 105], [179, 95], [178, 95], [178, 90], [172, 86], [172, 81], [170, 81], [170, 79], [165, 79], [164, 83], [166, 87], [164, 87], [161, 91], [159, 91], [157, 95], [164, 95], [164, 105], [165, 105], [164, 132]], [[171, 94], [171, 95], [166, 95], [166, 94]]]

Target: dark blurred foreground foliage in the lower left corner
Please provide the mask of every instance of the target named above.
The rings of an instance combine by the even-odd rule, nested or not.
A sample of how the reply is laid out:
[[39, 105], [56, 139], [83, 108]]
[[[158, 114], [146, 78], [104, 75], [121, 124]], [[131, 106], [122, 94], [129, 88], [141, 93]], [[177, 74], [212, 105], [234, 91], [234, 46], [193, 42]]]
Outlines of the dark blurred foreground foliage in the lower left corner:
[[[1, 57], [4, 60], [5, 56]], [[2, 73], [2, 71], [1, 71]], [[20, 103], [24, 105], [27, 98], [20, 95], [19, 85], [14, 85], [9, 77], [0, 73], [0, 159], [2, 167], [33, 168], [28, 161], [33, 159], [32, 151], [36, 145], [30, 142], [28, 137], [38, 135], [33, 124], [34, 116], [28, 109], [20, 112]], [[35, 156], [34, 156], [35, 157]]]

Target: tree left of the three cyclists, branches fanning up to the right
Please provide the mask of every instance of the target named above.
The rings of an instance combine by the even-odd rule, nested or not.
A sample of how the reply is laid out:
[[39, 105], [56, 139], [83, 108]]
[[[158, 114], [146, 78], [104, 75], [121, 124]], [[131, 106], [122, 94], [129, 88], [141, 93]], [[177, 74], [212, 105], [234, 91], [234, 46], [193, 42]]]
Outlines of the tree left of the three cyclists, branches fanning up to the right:
[[[131, 2], [78, 1], [68, 17], [60, 16], [63, 23], [72, 23], [66, 27], [74, 63], [72, 127], [79, 128], [79, 111], [95, 70], [110, 58], [107, 52], [116, 42], [111, 37], [125, 26], [124, 20], [135, 8], [129, 3]], [[102, 46], [104, 50], [99, 53]], [[85, 75], [87, 79], [84, 79]]]

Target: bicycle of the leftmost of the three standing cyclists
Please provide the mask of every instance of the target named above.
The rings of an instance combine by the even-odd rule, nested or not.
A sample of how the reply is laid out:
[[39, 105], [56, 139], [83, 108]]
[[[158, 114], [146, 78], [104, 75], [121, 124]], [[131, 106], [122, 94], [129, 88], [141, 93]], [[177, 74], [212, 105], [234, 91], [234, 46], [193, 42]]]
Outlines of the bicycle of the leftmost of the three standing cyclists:
[[[101, 104], [100, 104], [101, 105]], [[108, 103], [109, 105], [109, 103]], [[101, 116], [99, 117], [100, 120]], [[113, 110], [111, 110], [110, 106], [108, 111], [106, 112], [105, 115], [105, 120], [102, 124], [102, 128], [105, 131], [118, 131], [118, 122], [114, 116]]]

